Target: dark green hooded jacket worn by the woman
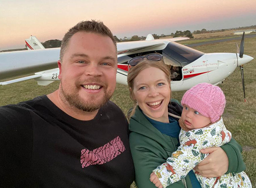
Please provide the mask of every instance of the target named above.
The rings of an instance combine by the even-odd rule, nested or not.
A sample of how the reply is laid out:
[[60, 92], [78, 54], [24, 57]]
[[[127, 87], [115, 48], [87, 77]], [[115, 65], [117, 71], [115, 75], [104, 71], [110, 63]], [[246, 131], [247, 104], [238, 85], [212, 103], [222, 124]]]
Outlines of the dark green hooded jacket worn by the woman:
[[[168, 112], [180, 116], [181, 111], [180, 103], [172, 99], [171, 105], [168, 105]], [[165, 163], [172, 152], [177, 150], [178, 140], [157, 130], [146, 119], [139, 107], [136, 108], [135, 114], [130, 119], [129, 129], [131, 131], [129, 142], [135, 167], [136, 185], [138, 188], [155, 188], [156, 186], [149, 179], [150, 174], [157, 166]], [[242, 147], [236, 140], [232, 138], [221, 148], [226, 152], [229, 160], [227, 173], [238, 173], [245, 170], [241, 155]], [[192, 188], [189, 176], [186, 176], [185, 182], [178, 181], [167, 187]]]

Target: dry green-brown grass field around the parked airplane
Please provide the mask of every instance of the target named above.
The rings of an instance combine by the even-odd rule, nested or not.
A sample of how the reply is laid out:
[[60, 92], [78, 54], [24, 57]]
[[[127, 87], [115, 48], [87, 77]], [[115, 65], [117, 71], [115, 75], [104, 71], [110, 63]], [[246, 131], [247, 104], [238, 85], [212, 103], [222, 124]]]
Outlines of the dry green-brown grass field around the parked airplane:
[[[236, 52], [235, 43], [239, 40], [197, 46], [195, 49], [205, 53]], [[256, 59], [256, 37], [245, 39], [245, 54]], [[239, 68], [232, 73], [219, 87], [226, 96], [226, 108], [223, 114], [224, 123], [244, 148], [243, 157], [253, 187], [256, 188], [256, 60], [244, 65], [245, 88], [247, 102], [243, 99], [241, 74]], [[48, 94], [58, 88], [59, 82], [48, 86], [38, 86], [36, 81], [29, 80], [7, 86], [0, 86], [0, 106]], [[184, 91], [185, 92], [185, 91]], [[172, 97], [181, 100], [184, 92], [173, 92]], [[126, 114], [133, 105], [129, 98], [127, 86], [117, 84], [111, 99], [117, 103]]]

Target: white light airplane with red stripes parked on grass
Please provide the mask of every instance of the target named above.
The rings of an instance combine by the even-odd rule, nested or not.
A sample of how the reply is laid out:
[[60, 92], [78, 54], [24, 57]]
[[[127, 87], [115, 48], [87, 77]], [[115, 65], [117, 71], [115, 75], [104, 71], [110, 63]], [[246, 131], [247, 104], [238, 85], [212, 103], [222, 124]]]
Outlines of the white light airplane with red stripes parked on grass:
[[[253, 60], [252, 57], [243, 55], [244, 35], [241, 40], [240, 53], [203, 53], [174, 42], [184, 39], [189, 38], [154, 39], [151, 34], [148, 34], [146, 40], [117, 43], [117, 83], [127, 85], [127, 61], [131, 58], [159, 53], [163, 55], [165, 64], [170, 67], [172, 91], [187, 90], [202, 82], [217, 85], [238, 66], [241, 68], [244, 87], [243, 67], [241, 66]], [[34, 44], [33, 42], [40, 43], [36, 37], [30, 37], [30, 39], [26, 39], [26, 44], [29, 44], [30, 47], [32, 44], [29, 41], [32, 41], [32, 44]], [[57, 68], [59, 51], [60, 48], [42, 49], [41, 47], [40, 50], [0, 53], [0, 80], [36, 72], [32, 76], [0, 82], [0, 85], [33, 78], [39, 85], [48, 85], [59, 80]]]

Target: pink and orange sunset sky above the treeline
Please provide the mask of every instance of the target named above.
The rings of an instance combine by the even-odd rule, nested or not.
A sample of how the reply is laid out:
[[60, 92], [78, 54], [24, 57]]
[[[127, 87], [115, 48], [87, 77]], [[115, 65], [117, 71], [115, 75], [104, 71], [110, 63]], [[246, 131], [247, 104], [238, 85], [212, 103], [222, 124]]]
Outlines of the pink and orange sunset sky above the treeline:
[[0, 50], [24, 48], [25, 38], [61, 40], [82, 20], [101, 20], [118, 38], [176, 30], [256, 25], [255, 0], [0, 0]]

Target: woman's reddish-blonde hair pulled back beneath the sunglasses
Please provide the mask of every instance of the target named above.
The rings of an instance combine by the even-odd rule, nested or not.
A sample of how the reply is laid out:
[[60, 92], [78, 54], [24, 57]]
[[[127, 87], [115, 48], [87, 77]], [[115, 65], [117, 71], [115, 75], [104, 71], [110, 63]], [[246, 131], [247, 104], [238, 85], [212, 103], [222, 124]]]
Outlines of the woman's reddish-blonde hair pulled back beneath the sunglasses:
[[[164, 64], [164, 62], [162, 60], [161, 61], [149, 61], [149, 60], [145, 59], [145, 60], [142, 60], [141, 62], [139, 62], [136, 66], [131, 67], [128, 72], [128, 75], [127, 75], [127, 83], [128, 83], [129, 90], [130, 90], [130, 98], [132, 99], [132, 101], [134, 102], [135, 105], [134, 105], [132, 111], [130, 111], [130, 113], [128, 112], [128, 119], [130, 119], [130, 117], [134, 114], [135, 109], [136, 109], [136, 101], [133, 98], [134, 80], [141, 71], [143, 71], [144, 69], [149, 68], [149, 67], [155, 67], [155, 68], [158, 68], [161, 71], [163, 71], [165, 73], [168, 83], [170, 84], [170, 82], [171, 82], [170, 69]], [[170, 93], [170, 95], [171, 95], [171, 93]]]

